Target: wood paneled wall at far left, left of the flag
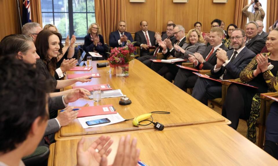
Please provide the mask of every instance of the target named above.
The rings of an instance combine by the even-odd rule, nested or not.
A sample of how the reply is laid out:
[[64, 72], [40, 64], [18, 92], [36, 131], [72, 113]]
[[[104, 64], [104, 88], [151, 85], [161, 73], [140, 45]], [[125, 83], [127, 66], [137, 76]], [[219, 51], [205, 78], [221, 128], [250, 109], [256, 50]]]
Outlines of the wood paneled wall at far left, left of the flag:
[[0, 40], [6, 35], [21, 33], [17, 0], [0, 0]]

